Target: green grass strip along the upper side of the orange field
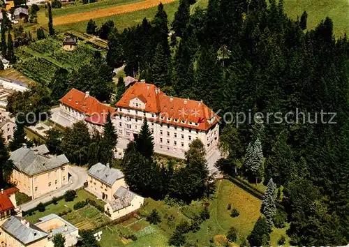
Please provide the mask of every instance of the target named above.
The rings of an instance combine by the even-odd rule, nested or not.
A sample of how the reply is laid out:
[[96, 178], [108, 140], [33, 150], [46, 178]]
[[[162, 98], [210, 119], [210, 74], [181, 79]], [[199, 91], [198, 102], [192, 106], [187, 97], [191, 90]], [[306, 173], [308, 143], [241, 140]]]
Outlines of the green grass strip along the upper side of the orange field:
[[70, 4], [70, 5], [63, 6], [63, 8], [54, 8], [52, 11], [52, 16], [58, 17], [62, 15], [83, 13], [85, 11], [98, 10], [101, 8], [110, 8], [110, 7], [120, 6], [124, 4], [135, 3], [138, 1], [144, 1], [144, 0], [105, 0], [105, 1], [97, 1], [96, 3], [80, 4], [77, 6]]

